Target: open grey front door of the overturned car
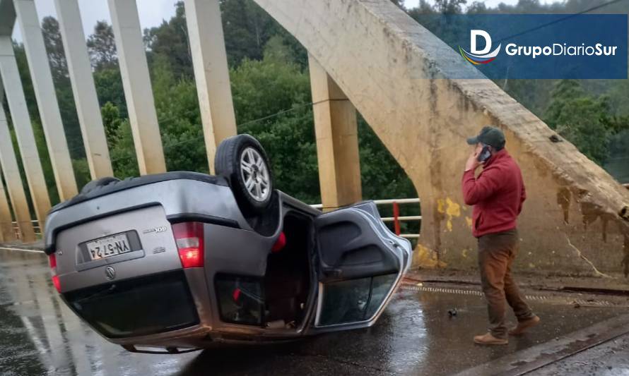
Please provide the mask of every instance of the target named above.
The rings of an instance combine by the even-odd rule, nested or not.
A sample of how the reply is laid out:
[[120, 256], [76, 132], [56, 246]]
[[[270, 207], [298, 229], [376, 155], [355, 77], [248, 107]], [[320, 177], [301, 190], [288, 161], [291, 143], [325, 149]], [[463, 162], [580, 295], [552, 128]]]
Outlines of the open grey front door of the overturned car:
[[312, 332], [370, 327], [411, 260], [411, 243], [395, 236], [373, 202], [319, 215], [314, 221], [319, 293]]

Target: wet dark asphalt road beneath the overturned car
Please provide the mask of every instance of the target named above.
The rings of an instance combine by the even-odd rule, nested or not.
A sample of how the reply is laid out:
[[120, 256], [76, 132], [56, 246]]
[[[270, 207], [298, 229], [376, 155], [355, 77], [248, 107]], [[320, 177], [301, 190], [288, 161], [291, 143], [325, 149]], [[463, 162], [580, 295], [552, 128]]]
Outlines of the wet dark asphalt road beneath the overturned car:
[[128, 353], [83, 325], [54, 291], [44, 255], [0, 250], [0, 375], [451, 375], [626, 312], [536, 300], [543, 325], [508, 346], [485, 348], [471, 343], [486, 328], [481, 296], [413, 287], [401, 289], [370, 329], [148, 355]]

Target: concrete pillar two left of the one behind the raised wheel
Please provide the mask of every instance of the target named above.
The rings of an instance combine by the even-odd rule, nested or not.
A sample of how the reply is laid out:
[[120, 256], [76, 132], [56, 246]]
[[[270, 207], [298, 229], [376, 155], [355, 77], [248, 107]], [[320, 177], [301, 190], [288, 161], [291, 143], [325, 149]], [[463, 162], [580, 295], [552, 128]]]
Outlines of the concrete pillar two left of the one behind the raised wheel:
[[113, 176], [110, 153], [107, 150], [105, 128], [102, 126], [100, 105], [92, 76], [92, 67], [86, 47], [77, 0], [55, 0], [61, 37], [68, 61], [68, 71], [76, 103], [78, 122], [81, 124], [83, 145], [93, 179]]

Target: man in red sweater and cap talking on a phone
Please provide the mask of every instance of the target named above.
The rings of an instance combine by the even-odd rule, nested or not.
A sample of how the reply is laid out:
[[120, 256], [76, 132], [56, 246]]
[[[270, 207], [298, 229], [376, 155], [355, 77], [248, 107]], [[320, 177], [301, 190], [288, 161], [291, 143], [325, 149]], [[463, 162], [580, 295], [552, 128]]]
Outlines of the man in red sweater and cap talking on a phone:
[[[505, 135], [486, 126], [469, 138], [476, 145], [465, 164], [463, 198], [474, 205], [472, 233], [478, 238], [478, 267], [489, 312], [489, 332], [474, 337], [481, 345], [506, 345], [507, 333], [519, 335], [539, 323], [519, 293], [511, 277], [511, 265], [519, 248], [516, 220], [526, 199], [522, 172], [505, 149]], [[478, 166], [483, 171], [475, 176]], [[506, 304], [509, 303], [517, 326], [507, 332]]]

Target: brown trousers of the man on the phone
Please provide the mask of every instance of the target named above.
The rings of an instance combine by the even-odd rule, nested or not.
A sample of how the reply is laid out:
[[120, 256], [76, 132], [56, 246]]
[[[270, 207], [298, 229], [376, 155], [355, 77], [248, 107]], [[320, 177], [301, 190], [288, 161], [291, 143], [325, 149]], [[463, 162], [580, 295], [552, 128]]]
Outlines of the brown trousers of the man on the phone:
[[518, 322], [534, 317], [511, 277], [511, 265], [519, 248], [517, 230], [483, 235], [478, 238], [478, 267], [489, 311], [489, 329], [496, 338], [507, 337], [506, 304]]

